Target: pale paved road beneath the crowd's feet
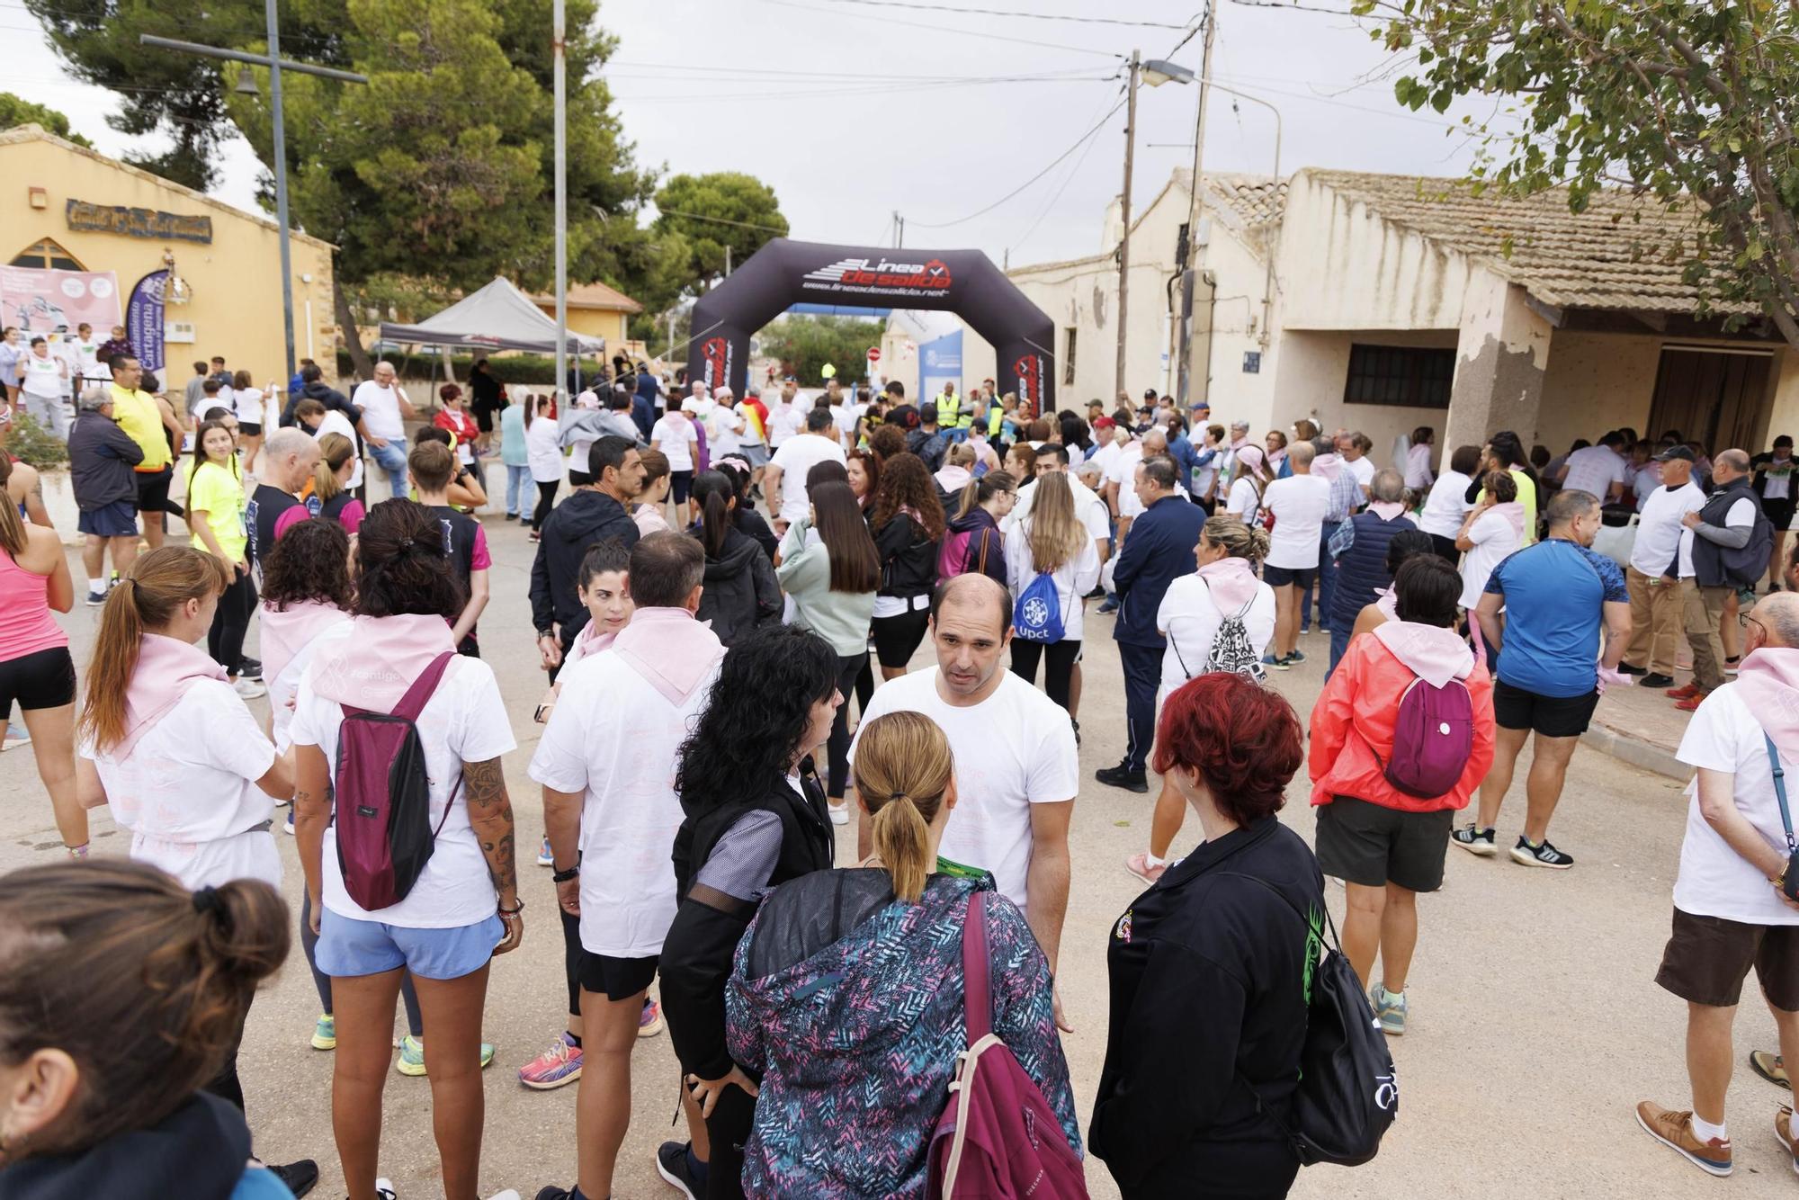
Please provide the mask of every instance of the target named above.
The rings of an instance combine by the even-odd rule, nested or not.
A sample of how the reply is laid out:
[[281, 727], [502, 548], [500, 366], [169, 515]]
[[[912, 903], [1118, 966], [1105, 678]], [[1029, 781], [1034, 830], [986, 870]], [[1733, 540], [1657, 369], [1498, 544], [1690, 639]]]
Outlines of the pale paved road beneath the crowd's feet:
[[[531, 646], [525, 583], [531, 547], [516, 527], [489, 518], [495, 554], [493, 606], [482, 640], [520, 739], [507, 783], [520, 846], [543, 829], [525, 765], [536, 743], [531, 709], [543, 676]], [[79, 578], [79, 563], [72, 561]], [[65, 619], [77, 662], [92, 646], [97, 610]], [[1081, 711], [1088, 779], [1074, 811], [1074, 889], [1061, 952], [1061, 993], [1076, 1031], [1065, 1038], [1083, 1126], [1105, 1052], [1106, 934], [1137, 894], [1123, 858], [1148, 838], [1153, 797], [1101, 788], [1092, 772], [1117, 761], [1124, 745], [1123, 687], [1110, 621], [1088, 626], [1087, 696]], [[1313, 662], [1275, 676], [1301, 712], [1317, 696], [1326, 642], [1302, 648]], [[921, 662], [925, 658], [921, 657]], [[255, 702], [257, 707], [263, 702]], [[1522, 777], [1500, 837], [1522, 820]], [[1302, 779], [1288, 790], [1284, 819], [1308, 840], [1311, 813]], [[1684, 1009], [1651, 982], [1668, 930], [1669, 889], [1678, 864], [1686, 804], [1678, 784], [1581, 748], [1569, 774], [1554, 838], [1580, 864], [1567, 873], [1533, 871], [1509, 860], [1452, 853], [1441, 894], [1419, 905], [1423, 936], [1412, 972], [1412, 1033], [1392, 1043], [1401, 1079], [1401, 1115], [1380, 1159], [1353, 1171], [1311, 1168], [1297, 1196], [1601, 1196], [1790, 1195], [1794, 1180], [1774, 1141], [1772, 1117], [1785, 1092], [1747, 1067], [1731, 1088], [1738, 1175], [1702, 1180], [1696, 1168], [1655, 1146], [1633, 1121], [1644, 1097], [1684, 1106]], [[124, 853], [104, 811], [95, 813], [95, 853]], [[1189, 822], [1184, 840], [1196, 838]], [[300, 871], [282, 838], [286, 894], [295, 903]], [[0, 756], [0, 869], [59, 855], [49, 801], [29, 752]], [[847, 858], [853, 846], [840, 846]], [[493, 970], [488, 1038], [498, 1043], [488, 1083], [482, 1187], [574, 1180], [574, 1088], [527, 1092], [515, 1070], [561, 1029], [561, 937], [549, 873], [524, 867], [525, 945]], [[1340, 912], [1342, 892], [1331, 891]], [[324, 1178], [315, 1195], [342, 1196], [331, 1146], [331, 1056], [308, 1045], [317, 997], [299, 959], [255, 1004], [243, 1043], [243, 1081], [257, 1150], [273, 1160], [309, 1155]], [[1195, 1022], [1205, 1020], [1195, 1013]], [[1750, 1045], [1772, 1045], [1772, 1022], [1758, 1002], [1738, 1024], [1738, 1061]], [[666, 1036], [639, 1047], [635, 1110], [615, 1195], [664, 1196], [655, 1146], [671, 1135], [676, 1067]], [[387, 1090], [383, 1173], [407, 1200], [441, 1195], [430, 1132], [428, 1083], [394, 1076]], [[1103, 1164], [1092, 1162], [1094, 1196], [1115, 1196]]]

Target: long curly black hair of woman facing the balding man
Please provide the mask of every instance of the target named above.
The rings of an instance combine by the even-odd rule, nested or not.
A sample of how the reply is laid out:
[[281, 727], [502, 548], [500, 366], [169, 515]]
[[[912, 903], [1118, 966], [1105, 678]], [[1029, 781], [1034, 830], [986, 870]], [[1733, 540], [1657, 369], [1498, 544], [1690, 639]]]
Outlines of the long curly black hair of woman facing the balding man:
[[837, 651], [811, 630], [775, 624], [727, 649], [676, 761], [675, 790], [687, 815], [786, 779], [811, 705], [835, 691]]

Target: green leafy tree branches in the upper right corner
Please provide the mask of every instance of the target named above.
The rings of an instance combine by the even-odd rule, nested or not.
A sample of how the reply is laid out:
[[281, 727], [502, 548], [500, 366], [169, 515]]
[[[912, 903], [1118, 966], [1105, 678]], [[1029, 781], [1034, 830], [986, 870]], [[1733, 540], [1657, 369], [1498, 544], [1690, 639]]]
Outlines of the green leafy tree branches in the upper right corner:
[[[1682, 263], [1700, 313], [1750, 306], [1799, 345], [1799, 9], [1785, 0], [1356, 0], [1416, 67], [1401, 104], [1517, 101], [1481, 135], [1475, 187], [1621, 185], [1695, 214], [1639, 252]], [[1509, 119], [1508, 119], [1509, 121]], [[1660, 241], [1657, 241], [1660, 237]], [[1731, 313], [1727, 324], [1747, 317]]]

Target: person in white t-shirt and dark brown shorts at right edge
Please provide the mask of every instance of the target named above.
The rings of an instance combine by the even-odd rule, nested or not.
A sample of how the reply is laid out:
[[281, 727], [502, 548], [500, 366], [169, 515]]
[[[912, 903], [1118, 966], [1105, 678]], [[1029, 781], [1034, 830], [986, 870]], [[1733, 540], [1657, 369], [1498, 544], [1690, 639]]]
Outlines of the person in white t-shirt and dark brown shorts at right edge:
[[[1693, 1103], [1678, 1112], [1637, 1105], [1637, 1124], [1650, 1137], [1709, 1175], [1731, 1171], [1723, 1097], [1750, 966], [1779, 1031], [1781, 1058], [1799, 1063], [1799, 903], [1781, 891], [1792, 826], [1770, 761], [1781, 763], [1786, 779], [1799, 777], [1799, 689], [1788, 682], [1799, 678], [1799, 597], [1776, 594], [1758, 603], [1743, 640], [1741, 673], [1705, 696], [1678, 750], [1696, 775], [1687, 784], [1673, 934], [1655, 982], [1687, 1004]], [[1770, 1060], [1767, 1051], [1750, 1054], [1768, 1078], [1783, 1065]], [[1799, 1162], [1790, 1110], [1776, 1114], [1774, 1133]]]

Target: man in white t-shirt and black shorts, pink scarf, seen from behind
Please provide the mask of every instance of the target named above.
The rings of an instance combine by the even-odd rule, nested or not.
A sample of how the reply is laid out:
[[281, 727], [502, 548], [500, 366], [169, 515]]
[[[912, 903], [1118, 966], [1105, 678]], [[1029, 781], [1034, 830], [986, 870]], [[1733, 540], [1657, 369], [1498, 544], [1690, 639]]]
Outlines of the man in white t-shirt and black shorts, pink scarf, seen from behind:
[[725, 657], [718, 635], [694, 619], [703, 578], [694, 538], [662, 531], [631, 547], [631, 622], [561, 675], [531, 756], [556, 903], [581, 918], [576, 1144], [588, 1196], [613, 1195], [631, 1115], [630, 1049], [675, 921], [669, 849], [684, 817], [675, 766]]

